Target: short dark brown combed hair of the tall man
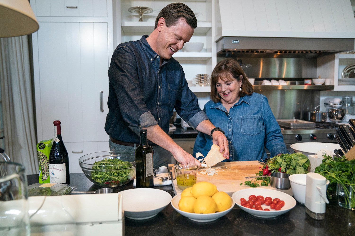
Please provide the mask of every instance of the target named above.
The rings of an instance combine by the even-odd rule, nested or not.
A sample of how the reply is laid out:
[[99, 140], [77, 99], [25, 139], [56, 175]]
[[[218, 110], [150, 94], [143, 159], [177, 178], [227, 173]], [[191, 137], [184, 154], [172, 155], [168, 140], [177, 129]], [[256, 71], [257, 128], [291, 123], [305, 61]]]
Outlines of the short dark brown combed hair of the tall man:
[[190, 7], [186, 6], [181, 2], [174, 2], [164, 7], [158, 14], [157, 19], [155, 19], [155, 27], [158, 27], [158, 21], [160, 17], [165, 19], [166, 27], [175, 25], [178, 20], [183, 17], [186, 19], [187, 24], [191, 26], [192, 29], [197, 27], [197, 19]]

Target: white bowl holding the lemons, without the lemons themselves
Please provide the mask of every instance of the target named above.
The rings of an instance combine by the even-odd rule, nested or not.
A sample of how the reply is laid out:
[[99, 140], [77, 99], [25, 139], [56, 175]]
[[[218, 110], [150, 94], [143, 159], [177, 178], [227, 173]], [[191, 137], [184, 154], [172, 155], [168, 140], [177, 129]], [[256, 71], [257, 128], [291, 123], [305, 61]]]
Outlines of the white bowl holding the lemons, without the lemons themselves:
[[234, 200], [232, 200], [232, 204], [229, 207], [229, 209], [226, 209], [223, 212], [215, 212], [215, 213], [208, 213], [208, 214], [197, 214], [197, 213], [190, 213], [190, 212], [184, 212], [179, 209], [179, 201], [181, 198], [181, 194], [176, 195], [173, 197], [173, 200], [171, 200], [171, 206], [174, 207], [174, 209], [179, 212], [181, 215], [184, 215], [185, 217], [189, 218], [190, 220], [197, 221], [197, 222], [210, 222], [213, 220], [217, 220], [218, 218], [222, 217], [223, 215], [227, 214], [230, 212], [230, 210], [234, 207]]

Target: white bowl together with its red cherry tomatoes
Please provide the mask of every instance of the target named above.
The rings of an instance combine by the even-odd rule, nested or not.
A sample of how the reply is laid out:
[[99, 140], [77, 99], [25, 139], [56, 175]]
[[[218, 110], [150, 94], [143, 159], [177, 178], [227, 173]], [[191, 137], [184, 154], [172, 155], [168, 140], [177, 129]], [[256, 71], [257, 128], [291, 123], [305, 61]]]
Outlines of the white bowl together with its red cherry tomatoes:
[[240, 209], [261, 218], [277, 217], [296, 206], [293, 197], [272, 189], [242, 189], [234, 192], [232, 198]]

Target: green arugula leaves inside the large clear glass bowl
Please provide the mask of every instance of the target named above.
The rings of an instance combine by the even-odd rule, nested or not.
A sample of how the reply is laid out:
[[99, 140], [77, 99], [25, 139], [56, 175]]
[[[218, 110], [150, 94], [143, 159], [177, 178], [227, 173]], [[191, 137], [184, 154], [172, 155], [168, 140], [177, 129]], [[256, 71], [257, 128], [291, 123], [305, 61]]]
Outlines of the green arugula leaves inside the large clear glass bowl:
[[115, 185], [126, 182], [134, 178], [135, 169], [129, 168], [131, 166], [133, 165], [128, 161], [105, 158], [94, 162], [93, 169], [98, 171], [91, 171], [91, 178], [100, 185]]

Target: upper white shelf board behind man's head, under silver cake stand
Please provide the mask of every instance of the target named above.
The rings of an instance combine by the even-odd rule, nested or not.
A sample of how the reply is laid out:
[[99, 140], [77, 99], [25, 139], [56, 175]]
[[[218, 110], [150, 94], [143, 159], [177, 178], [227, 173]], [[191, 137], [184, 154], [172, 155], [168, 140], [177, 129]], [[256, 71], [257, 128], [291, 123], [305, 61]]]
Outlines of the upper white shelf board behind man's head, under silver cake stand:
[[[155, 22], [122, 21], [121, 27], [124, 33], [146, 33], [154, 30]], [[212, 28], [211, 22], [197, 22], [195, 33], [207, 33]]]

